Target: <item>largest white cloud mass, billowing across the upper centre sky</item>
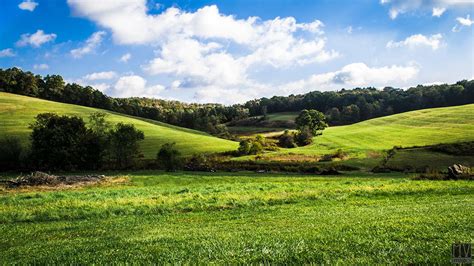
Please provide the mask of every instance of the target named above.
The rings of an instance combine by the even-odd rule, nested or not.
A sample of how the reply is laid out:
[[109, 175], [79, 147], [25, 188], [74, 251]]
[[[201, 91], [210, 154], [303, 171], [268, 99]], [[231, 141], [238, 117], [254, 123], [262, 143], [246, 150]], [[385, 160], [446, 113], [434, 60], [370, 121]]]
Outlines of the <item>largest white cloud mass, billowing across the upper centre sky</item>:
[[[195, 12], [173, 7], [152, 15], [145, 0], [68, 0], [68, 4], [75, 15], [110, 29], [116, 43], [156, 47], [156, 57], [142, 68], [150, 75], [179, 80], [176, 89], [242, 91], [255, 87], [249, 78], [254, 67], [284, 69], [339, 56], [326, 48], [319, 20], [238, 19], [221, 14], [214, 5]], [[199, 99], [202, 95], [196, 93]]]

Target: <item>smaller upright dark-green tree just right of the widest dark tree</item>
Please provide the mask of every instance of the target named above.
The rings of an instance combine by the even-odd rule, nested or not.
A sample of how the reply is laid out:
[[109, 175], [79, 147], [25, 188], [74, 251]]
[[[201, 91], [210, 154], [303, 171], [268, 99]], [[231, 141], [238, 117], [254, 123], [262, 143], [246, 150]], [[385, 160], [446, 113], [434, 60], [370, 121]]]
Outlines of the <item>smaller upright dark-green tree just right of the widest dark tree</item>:
[[144, 140], [143, 131], [132, 124], [118, 123], [110, 131], [110, 156], [118, 167], [126, 168], [133, 165], [141, 155], [139, 141]]

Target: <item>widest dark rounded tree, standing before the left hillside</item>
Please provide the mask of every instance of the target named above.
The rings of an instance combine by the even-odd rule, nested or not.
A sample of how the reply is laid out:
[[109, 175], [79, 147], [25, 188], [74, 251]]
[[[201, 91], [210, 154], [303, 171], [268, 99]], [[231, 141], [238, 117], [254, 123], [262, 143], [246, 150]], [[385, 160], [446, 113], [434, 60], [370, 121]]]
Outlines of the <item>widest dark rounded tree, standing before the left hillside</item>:
[[90, 169], [102, 160], [100, 139], [80, 117], [39, 114], [30, 128], [31, 159], [39, 168]]

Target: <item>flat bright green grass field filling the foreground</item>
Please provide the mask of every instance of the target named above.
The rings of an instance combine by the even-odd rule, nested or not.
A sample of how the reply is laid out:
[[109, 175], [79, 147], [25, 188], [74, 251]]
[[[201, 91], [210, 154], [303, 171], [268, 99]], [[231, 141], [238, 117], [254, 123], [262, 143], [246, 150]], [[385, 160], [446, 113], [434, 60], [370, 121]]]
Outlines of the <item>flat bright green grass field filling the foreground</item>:
[[160, 172], [126, 180], [2, 190], [0, 263], [449, 263], [451, 243], [474, 238], [468, 181]]

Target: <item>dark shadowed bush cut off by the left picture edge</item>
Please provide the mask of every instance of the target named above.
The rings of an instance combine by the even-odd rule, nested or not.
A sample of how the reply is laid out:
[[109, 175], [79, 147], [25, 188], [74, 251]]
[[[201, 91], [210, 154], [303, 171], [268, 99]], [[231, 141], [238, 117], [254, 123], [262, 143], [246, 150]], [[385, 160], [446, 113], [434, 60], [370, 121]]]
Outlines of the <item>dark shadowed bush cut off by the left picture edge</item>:
[[18, 169], [23, 155], [23, 146], [17, 137], [0, 139], [0, 169]]

